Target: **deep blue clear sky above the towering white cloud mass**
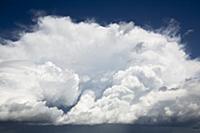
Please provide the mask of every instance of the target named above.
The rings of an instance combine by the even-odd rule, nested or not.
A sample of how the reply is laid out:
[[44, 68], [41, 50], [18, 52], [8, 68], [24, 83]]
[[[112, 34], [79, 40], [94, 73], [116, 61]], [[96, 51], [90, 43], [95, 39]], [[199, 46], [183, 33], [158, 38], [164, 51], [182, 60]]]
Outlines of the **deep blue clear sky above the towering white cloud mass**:
[[[16, 39], [16, 30], [33, 24], [33, 14], [71, 16], [80, 21], [95, 19], [108, 24], [134, 21], [137, 25], [159, 28], [170, 19], [181, 27], [184, 43], [192, 57], [200, 55], [200, 2], [198, 0], [1, 0], [0, 36]], [[189, 34], [188, 34], [189, 33]]]

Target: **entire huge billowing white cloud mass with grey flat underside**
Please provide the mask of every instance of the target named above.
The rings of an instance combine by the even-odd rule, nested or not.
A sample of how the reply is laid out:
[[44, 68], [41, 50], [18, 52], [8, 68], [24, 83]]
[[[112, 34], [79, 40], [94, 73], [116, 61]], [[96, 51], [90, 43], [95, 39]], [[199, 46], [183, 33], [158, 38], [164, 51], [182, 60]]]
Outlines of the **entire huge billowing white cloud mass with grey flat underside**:
[[[168, 32], [170, 33], [170, 32]], [[130, 23], [46, 16], [0, 45], [0, 121], [52, 124], [200, 118], [200, 62], [180, 38]]]

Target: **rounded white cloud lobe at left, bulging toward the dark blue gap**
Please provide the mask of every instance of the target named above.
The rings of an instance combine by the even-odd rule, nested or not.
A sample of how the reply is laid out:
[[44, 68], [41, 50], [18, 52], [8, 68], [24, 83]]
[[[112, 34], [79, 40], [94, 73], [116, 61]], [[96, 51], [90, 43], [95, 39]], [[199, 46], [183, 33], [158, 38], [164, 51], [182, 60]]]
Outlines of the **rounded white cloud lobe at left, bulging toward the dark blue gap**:
[[1, 120], [53, 122], [79, 95], [78, 75], [51, 62], [3, 61], [0, 70]]

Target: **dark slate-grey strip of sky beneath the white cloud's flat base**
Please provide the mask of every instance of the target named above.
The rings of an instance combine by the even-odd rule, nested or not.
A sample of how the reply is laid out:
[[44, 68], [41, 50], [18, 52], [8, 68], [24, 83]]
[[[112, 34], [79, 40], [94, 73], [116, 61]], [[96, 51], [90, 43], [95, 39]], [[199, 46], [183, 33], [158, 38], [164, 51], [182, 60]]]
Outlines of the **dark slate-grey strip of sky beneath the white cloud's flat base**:
[[195, 125], [31, 125], [15, 122], [0, 123], [0, 133], [199, 133]]

